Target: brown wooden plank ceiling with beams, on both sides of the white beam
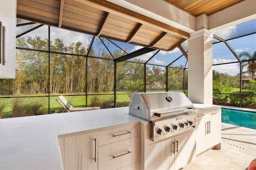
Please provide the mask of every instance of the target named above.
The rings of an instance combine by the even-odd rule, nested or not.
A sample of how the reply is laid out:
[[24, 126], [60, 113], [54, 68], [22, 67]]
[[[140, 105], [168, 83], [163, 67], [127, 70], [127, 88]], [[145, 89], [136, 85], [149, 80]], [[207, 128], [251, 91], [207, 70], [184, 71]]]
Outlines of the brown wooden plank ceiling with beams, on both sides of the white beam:
[[[224, 0], [168, 0], [193, 15], [222, 9], [212, 4], [219, 1]], [[222, 6], [239, 1], [225, 0]], [[205, 11], [199, 2], [206, 2]], [[189, 38], [187, 32], [105, 0], [17, 0], [17, 18], [165, 51]]]

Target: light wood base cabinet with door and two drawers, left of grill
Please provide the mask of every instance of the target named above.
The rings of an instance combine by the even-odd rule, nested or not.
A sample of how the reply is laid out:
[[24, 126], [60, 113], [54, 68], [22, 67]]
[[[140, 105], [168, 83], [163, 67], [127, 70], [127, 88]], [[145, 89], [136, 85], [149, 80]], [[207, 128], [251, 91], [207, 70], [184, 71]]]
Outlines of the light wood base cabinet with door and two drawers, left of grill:
[[140, 169], [140, 124], [59, 138], [64, 170]]

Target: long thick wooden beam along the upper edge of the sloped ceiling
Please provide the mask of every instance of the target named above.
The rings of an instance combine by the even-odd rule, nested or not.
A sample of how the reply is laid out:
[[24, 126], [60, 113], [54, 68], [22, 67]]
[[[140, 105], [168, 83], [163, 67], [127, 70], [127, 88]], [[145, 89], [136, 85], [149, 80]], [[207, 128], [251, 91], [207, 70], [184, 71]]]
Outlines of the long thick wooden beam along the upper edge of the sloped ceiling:
[[133, 20], [133, 21], [141, 23], [143, 25], [150, 26], [152, 28], [156, 28], [158, 30], [173, 34], [180, 38], [184, 38], [184, 39], [190, 38], [190, 35], [187, 32], [184, 32], [178, 28], [175, 28], [173, 26], [170, 26], [170, 25], [160, 22], [158, 20], [152, 19], [148, 16], [144, 16], [142, 14], [139, 14], [137, 12], [134, 12], [132, 10], [124, 8], [122, 6], [118, 6], [112, 2], [108, 2], [106, 0], [74, 0], [74, 1], [80, 2], [82, 4], [86, 4], [88, 6], [92, 6], [94, 8], [98, 8], [100, 10], [104, 10], [106, 12], [110, 12], [111, 14], [122, 16], [129, 20]]

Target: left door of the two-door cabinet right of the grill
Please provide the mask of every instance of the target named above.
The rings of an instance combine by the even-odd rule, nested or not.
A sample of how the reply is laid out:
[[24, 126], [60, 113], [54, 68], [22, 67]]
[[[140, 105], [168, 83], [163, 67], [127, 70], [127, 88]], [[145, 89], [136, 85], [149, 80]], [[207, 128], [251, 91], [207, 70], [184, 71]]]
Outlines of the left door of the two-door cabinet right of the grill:
[[200, 119], [196, 121], [196, 154], [200, 154], [207, 150], [207, 129], [206, 119]]

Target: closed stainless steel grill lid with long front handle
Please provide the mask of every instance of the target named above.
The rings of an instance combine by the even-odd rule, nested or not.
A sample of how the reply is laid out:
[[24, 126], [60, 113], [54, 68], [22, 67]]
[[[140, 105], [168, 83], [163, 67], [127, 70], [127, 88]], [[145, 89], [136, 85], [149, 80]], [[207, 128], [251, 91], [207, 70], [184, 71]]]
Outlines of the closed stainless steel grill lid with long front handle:
[[194, 111], [193, 103], [182, 92], [131, 93], [129, 114], [155, 120]]

